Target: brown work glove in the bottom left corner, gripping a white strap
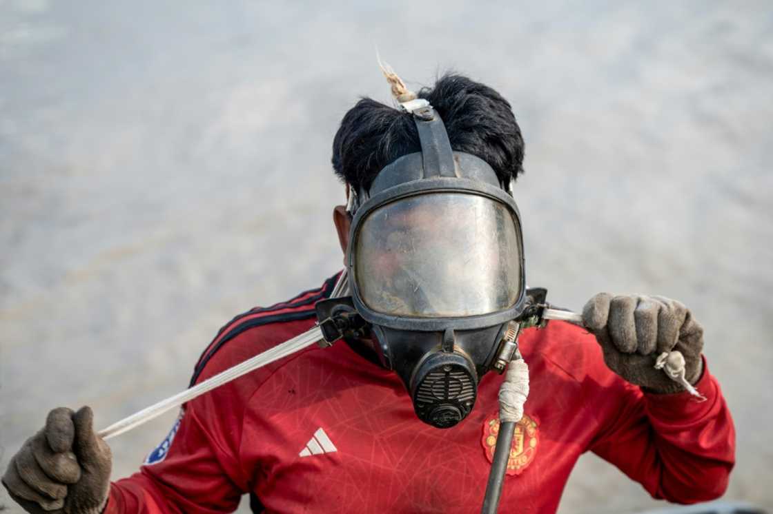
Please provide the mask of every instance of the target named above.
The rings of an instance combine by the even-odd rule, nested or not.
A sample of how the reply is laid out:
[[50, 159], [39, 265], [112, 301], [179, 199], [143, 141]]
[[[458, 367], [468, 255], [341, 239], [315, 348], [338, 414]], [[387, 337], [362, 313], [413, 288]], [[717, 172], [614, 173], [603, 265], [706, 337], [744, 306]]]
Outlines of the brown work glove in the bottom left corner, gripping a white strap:
[[13, 456], [2, 477], [11, 498], [27, 512], [97, 514], [107, 503], [111, 451], [83, 407], [50, 411], [46, 426]]

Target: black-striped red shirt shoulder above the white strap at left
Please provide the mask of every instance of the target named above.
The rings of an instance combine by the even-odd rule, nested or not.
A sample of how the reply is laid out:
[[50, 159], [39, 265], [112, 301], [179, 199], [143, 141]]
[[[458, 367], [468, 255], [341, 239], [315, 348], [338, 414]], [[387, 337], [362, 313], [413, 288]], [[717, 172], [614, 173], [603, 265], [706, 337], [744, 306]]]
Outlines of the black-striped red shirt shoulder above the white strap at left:
[[[268, 307], [254, 307], [235, 316], [218, 330], [215, 338], [199, 357], [190, 380], [197, 384], [258, 353], [305, 332], [315, 323], [315, 304], [329, 298], [339, 274], [315, 289], [308, 289], [292, 299]], [[261, 381], [293, 356], [278, 360], [250, 381]], [[257, 384], [256, 384], [257, 385]]]

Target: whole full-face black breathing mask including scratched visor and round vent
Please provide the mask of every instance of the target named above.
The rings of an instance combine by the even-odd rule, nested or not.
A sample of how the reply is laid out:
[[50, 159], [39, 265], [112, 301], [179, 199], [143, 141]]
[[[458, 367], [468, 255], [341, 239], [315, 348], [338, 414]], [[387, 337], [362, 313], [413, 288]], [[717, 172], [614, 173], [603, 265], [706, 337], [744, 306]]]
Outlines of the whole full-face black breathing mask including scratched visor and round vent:
[[352, 303], [422, 421], [449, 428], [475, 404], [508, 323], [523, 311], [523, 240], [509, 184], [451, 150], [427, 100], [401, 104], [421, 153], [384, 167], [350, 201]]

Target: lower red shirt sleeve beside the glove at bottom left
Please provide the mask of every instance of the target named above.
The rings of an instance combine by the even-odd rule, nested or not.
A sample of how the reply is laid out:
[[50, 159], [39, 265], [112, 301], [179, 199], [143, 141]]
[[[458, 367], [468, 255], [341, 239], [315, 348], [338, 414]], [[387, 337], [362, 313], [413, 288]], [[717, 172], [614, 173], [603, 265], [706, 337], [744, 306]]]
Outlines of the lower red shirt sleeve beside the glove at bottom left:
[[106, 514], [209, 514], [237, 509], [243, 490], [233, 478], [239, 478], [233, 477], [227, 452], [207, 433], [195, 404], [188, 405], [176, 432], [173, 428], [158, 451], [165, 451], [163, 460], [111, 484]]

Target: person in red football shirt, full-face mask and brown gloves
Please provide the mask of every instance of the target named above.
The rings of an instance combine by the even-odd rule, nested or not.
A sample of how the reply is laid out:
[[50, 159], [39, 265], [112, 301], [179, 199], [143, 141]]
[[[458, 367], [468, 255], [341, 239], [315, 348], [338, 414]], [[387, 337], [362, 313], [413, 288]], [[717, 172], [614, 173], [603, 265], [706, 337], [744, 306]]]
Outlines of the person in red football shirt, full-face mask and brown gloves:
[[[139, 471], [114, 482], [90, 408], [56, 408], [2, 477], [19, 505], [212, 513], [250, 495], [254, 512], [478, 511], [499, 430], [502, 376], [487, 371], [525, 305], [511, 194], [523, 137], [489, 86], [447, 75], [413, 93], [388, 78], [399, 106], [359, 100], [332, 144], [347, 198], [333, 221], [369, 336], [309, 347], [189, 401]], [[191, 384], [308, 330], [337, 277], [235, 317]], [[502, 512], [554, 512], [586, 451], [658, 499], [722, 495], [734, 426], [690, 310], [600, 293], [583, 316], [590, 333], [551, 322], [520, 334], [531, 392]], [[671, 350], [702, 399], [653, 367]]]

